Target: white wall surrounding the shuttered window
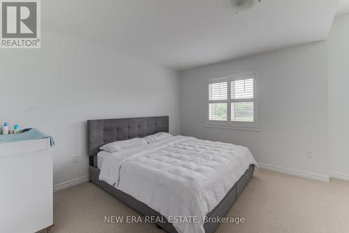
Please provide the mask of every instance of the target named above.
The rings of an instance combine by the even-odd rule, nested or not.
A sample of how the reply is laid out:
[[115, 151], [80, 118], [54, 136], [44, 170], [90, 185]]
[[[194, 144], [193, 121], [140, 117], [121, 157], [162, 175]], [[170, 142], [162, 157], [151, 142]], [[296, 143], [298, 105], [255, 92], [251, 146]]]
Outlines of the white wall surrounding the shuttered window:
[[[205, 128], [205, 80], [255, 68], [261, 70], [260, 131]], [[181, 134], [248, 146], [258, 163], [325, 180], [327, 100], [327, 42], [186, 70], [181, 73]], [[307, 158], [306, 151], [313, 158]]]

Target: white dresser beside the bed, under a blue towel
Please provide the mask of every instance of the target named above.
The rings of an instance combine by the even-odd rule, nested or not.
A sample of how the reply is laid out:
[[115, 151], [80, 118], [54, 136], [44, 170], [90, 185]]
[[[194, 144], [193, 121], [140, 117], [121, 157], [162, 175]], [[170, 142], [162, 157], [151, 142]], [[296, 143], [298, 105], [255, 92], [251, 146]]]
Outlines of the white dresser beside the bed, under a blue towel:
[[50, 139], [0, 144], [0, 232], [53, 225]]

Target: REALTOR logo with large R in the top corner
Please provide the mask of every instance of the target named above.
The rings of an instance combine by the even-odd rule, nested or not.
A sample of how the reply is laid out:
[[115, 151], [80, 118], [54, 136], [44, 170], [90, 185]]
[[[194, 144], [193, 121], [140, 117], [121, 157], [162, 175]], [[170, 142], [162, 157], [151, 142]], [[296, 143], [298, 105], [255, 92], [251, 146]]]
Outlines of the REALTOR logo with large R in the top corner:
[[40, 0], [0, 0], [1, 48], [40, 48]]

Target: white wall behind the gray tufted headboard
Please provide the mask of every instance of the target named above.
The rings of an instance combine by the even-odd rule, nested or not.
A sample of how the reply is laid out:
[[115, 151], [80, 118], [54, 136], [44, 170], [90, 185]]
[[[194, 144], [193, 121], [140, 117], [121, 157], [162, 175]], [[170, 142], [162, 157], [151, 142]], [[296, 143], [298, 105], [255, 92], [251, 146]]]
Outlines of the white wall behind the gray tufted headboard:
[[40, 50], [1, 50], [0, 70], [0, 122], [54, 137], [54, 184], [88, 174], [87, 119], [168, 115], [179, 133], [179, 73], [149, 61], [46, 32]]

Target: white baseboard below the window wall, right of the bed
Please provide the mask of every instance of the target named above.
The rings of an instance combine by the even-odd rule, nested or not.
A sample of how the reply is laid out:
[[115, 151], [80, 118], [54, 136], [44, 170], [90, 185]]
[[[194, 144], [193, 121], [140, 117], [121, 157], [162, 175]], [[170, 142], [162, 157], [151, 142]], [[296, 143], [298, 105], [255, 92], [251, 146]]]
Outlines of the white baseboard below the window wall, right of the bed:
[[276, 167], [276, 166], [267, 165], [267, 164], [263, 164], [263, 163], [258, 163], [258, 165], [260, 166], [260, 168], [265, 169], [265, 170], [271, 170], [274, 172], [289, 174], [291, 176], [299, 176], [299, 177], [303, 177], [303, 178], [307, 178], [307, 179], [315, 179], [316, 181], [323, 181], [323, 182], [329, 183], [329, 176], [320, 175], [320, 174], [313, 174], [313, 173], [309, 173], [309, 172], [302, 172], [299, 170], [292, 170], [292, 169], [283, 168], [283, 167]]

